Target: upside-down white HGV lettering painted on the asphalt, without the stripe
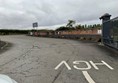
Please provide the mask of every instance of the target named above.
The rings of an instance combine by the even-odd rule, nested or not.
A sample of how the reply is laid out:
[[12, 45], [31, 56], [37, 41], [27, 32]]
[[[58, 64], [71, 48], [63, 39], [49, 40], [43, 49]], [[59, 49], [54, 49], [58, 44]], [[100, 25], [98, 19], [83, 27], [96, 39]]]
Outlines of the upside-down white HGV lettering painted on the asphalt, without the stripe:
[[[85, 64], [86, 67], [78, 67], [80, 64]], [[62, 65], [65, 65], [65, 67], [68, 70], [71, 70], [72, 68], [69, 66], [69, 64], [66, 61], [61, 61], [56, 67], [55, 70], [58, 70]], [[95, 68], [96, 70], [99, 70], [99, 66], [106, 66], [107, 68], [109, 68], [110, 70], [114, 70], [113, 67], [111, 67], [109, 64], [107, 64], [105, 61], [101, 61], [100, 63], [94, 63], [93, 61], [73, 61], [73, 68], [77, 69], [77, 70], [89, 70], [92, 67]]]

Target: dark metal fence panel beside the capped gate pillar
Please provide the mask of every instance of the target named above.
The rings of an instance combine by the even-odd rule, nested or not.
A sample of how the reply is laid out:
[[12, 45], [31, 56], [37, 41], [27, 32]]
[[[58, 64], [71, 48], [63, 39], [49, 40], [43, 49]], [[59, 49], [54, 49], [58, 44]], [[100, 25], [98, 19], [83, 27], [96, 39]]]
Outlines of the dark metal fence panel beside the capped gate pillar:
[[118, 17], [103, 22], [103, 43], [118, 49]]

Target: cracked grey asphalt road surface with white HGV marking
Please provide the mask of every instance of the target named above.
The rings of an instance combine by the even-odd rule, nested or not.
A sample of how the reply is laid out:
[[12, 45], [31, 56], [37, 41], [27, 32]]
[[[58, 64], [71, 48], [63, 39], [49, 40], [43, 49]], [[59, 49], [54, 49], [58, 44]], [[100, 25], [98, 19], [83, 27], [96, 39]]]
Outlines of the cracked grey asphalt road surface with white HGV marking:
[[118, 55], [96, 43], [0, 36], [0, 73], [18, 83], [118, 83]]

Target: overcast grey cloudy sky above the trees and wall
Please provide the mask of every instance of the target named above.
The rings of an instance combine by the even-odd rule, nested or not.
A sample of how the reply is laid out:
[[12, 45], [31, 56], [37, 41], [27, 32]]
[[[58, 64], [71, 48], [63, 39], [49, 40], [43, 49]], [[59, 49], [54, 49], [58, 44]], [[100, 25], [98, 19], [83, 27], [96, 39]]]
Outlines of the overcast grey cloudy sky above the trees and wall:
[[0, 28], [27, 29], [33, 22], [39, 28], [77, 23], [101, 23], [99, 17], [118, 16], [118, 0], [0, 0]]

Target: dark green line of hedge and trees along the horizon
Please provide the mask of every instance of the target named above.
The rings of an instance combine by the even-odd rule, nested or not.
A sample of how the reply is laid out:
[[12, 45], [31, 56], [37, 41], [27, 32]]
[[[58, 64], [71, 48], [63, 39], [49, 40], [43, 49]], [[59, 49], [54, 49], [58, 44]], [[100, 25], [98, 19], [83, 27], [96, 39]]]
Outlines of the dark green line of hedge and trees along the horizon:
[[36, 29], [31, 29], [31, 30], [12, 30], [12, 29], [0, 29], [0, 35], [11, 35], [11, 34], [28, 34], [29, 32], [54, 32], [54, 31], [69, 31], [69, 30], [86, 30], [86, 29], [100, 29], [102, 27], [101, 24], [93, 24], [93, 25], [75, 25], [74, 20], [68, 20], [68, 23], [66, 26], [61, 26], [57, 28], [56, 30], [36, 30]]

